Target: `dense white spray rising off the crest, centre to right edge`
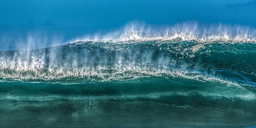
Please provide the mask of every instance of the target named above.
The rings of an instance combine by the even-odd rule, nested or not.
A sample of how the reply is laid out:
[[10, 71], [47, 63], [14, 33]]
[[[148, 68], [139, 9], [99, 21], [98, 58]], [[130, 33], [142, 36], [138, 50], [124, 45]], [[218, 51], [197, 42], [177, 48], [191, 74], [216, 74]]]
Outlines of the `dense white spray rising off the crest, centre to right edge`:
[[[77, 38], [77, 41], [149, 41], [180, 40], [199, 42], [256, 42], [256, 29], [240, 25], [202, 25], [196, 22], [172, 26], [152, 27], [145, 23], [128, 23], [124, 28], [94, 36]], [[73, 41], [72, 41], [73, 42]], [[74, 41], [75, 42], [75, 41]]]

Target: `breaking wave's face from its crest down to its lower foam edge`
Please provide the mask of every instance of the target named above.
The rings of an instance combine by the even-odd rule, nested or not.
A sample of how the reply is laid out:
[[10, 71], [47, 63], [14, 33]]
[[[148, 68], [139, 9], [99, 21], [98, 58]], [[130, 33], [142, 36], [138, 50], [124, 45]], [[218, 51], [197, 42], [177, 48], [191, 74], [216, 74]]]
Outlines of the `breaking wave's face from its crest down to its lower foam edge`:
[[[256, 75], [254, 48], [256, 45], [251, 43], [81, 41], [44, 49], [1, 52], [0, 79], [80, 83], [182, 77], [235, 86], [254, 85], [255, 81], [251, 80]], [[233, 73], [223, 74], [218, 70]], [[233, 75], [236, 73], [243, 75]]]

